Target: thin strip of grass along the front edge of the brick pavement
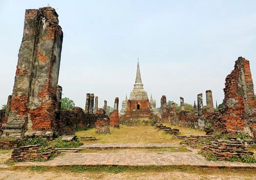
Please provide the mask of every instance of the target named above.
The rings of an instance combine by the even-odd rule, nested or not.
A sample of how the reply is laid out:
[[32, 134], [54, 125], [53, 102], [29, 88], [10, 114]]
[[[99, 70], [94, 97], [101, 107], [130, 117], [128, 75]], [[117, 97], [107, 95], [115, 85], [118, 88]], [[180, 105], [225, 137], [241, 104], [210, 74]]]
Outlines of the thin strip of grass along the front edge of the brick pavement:
[[233, 174], [241, 173], [247, 175], [256, 175], [256, 169], [229, 169], [229, 168], [200, 168], [191, 166], [60, 166], [60, 167], [45, 167], [45, 166], [23, 166], [23, 167], [9, 167], [8, 170], [20, 170], [20, 171], [53, 171], [53, 172], [108, 172], [108, 173], [120, 173], [120, 172], [187, 172], [195, 174]]

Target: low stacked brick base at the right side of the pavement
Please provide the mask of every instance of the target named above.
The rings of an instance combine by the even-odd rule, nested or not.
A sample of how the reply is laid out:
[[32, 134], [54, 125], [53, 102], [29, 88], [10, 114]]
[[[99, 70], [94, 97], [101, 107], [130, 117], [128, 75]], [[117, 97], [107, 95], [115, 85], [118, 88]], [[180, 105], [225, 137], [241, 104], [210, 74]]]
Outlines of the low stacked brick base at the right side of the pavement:
[[212, 156], [217, 160], [230, 161], [231, 158], [237, 156], [242, 158], [247, 154], [253, 156], [253, 152], [245, 149], [245, 145], [239, 140], [215, 140], [208, 143], [205, 147], [202, 148], [203, 153], [211, 152]]

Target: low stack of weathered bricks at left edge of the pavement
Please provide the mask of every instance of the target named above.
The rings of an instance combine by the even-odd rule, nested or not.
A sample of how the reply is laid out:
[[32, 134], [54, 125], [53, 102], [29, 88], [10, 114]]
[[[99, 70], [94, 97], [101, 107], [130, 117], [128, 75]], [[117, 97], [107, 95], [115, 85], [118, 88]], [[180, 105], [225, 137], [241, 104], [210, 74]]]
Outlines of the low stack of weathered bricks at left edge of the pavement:
[[12, 151], [10, 162], [24, 161], [45, 161], [57, 153], [52, 147], [42, 147], [41, 145], [22, 146]]

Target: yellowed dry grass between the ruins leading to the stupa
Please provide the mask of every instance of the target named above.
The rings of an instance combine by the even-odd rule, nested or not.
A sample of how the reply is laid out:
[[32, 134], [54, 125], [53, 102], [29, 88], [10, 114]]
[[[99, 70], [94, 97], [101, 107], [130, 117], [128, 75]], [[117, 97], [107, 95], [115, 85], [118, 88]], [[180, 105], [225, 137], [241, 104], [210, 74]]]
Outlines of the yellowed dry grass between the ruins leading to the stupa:
[[[165, 124], [166, 126], [170, 126]], [[194, 130], [187, 127], [171, 126], [178, 128], [182, 136], [205, 135], [205, 132]], [[95, 128], [87, 131], [78, 131], [78, 137], [94, 136], [98, 141], [91, 143], [178, 143], [179, 139], [173, 139], [173, 135], [166, 134], [164, 131], [158, 131], [155, 126], [125, 126], [120, 125], [120, 129], [110, 129], [111, 134], [97, 134]]]

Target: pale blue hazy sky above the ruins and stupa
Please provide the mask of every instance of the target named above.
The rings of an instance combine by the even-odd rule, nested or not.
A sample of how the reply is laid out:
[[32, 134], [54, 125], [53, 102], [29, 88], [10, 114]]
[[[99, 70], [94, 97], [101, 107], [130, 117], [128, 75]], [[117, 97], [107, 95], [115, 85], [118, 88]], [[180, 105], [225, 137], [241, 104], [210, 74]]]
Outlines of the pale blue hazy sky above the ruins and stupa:
[[84, 108], [86, 93], [119, 109], [135, 83], [137, 58], [150, 98], [194, 104], [211, 90], [221, 104], [225, 78], [242, 56], [256, 79], [256, 1], [0, 1], [0, 106], [12, 94], [26, 9], [51, 6], [64, 37], [58, 84]]

